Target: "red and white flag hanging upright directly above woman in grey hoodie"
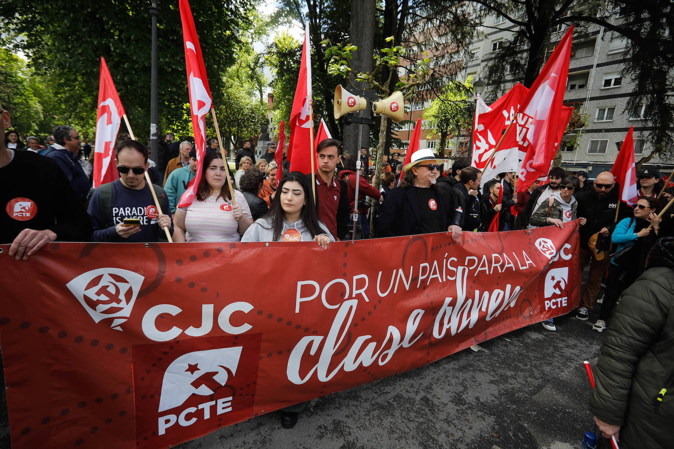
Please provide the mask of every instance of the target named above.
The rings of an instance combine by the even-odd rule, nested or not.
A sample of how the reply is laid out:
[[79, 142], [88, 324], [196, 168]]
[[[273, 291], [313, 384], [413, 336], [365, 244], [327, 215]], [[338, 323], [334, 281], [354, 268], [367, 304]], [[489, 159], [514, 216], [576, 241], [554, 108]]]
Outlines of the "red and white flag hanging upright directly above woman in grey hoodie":
[[[293, 110], [290, 112], [290, 143], [288, 160], [291, 172], [311, 173], [311, 48], [309, 48], [309, 22], [305, 28], [302, 61], [297, 78]], [[315, 152], [313, 155], [315, 158]], [[314, 166], [314, 169], [316, 166]]]

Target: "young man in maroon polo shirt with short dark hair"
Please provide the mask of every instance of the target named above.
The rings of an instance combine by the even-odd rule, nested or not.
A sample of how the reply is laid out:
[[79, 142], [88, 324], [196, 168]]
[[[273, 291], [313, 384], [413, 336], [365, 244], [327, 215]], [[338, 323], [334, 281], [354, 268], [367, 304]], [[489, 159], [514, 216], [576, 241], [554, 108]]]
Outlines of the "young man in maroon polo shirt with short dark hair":
[[336, 139], [324, 139], [318, 144], [318, 170], [316, 171], [316, 207], [318, 217], [328, 227], [335, 240], [343, 240], [348, 225], [348, 197], [346, 183], [334, 177], [339, 162]]

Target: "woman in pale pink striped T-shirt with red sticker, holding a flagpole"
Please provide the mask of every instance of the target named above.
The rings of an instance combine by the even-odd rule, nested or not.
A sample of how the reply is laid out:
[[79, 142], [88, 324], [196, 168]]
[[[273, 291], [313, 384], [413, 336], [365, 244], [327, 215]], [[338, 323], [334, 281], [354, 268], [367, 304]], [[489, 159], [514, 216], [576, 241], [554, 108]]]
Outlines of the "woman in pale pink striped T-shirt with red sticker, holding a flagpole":
[[253, 217], [241, 192], [234, 191], [237, 204], [232, 203], [225, 170], [220, 154], [206, 155], [194, 201], [173, 215], [173, 241], [238, 242], [251, 226]]

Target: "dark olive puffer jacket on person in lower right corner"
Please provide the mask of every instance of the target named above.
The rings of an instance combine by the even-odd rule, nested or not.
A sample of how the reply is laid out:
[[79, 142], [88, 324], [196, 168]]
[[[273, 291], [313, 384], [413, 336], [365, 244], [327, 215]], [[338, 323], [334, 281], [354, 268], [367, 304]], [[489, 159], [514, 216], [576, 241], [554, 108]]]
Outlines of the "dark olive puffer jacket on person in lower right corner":
[[[623, 293], [595, 370], [590, 411], [620, 425], [622, 449], [674, 442], [674, 239], [661, 238]], [[667, 388], [662, 401], [658, 393]]]

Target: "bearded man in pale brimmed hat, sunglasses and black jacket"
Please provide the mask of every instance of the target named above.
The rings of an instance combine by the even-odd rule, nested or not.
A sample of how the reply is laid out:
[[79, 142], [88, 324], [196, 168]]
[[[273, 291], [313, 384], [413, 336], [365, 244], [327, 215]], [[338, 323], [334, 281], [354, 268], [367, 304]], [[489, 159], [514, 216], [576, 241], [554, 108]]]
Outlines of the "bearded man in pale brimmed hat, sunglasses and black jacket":
[[429, 148], [412, 154], [411, 162], [402, 168], [402, 183], [386, 195], [379, 237], [452, 232], [456, 239], [461, 235], [456, 211], [435, 185], [443, 162]]

